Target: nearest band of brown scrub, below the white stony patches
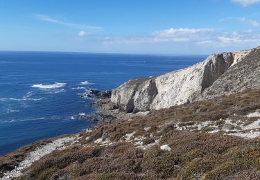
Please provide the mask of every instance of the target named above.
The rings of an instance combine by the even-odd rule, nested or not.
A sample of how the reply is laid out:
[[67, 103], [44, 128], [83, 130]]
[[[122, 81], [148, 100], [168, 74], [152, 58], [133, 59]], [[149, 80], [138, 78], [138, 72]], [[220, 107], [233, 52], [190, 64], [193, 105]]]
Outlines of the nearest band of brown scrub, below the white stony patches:
[[[160, 150], [163, 144], [171, 152]], [[259, 177], [259, 167], [258, 139], [173, 130], [146, 151], [116, 143], [53, 152], [19, 179], [246, 179]]]

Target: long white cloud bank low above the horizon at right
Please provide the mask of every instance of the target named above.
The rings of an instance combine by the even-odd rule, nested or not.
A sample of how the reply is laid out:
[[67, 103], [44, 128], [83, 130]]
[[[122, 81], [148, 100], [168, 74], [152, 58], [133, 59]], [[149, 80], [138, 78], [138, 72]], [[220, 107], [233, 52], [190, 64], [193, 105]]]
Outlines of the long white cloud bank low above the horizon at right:
[[[104, 44], [157, 44], [172, 43], [179, 46], [233, 47], [245, 44], [258, 46], [260, 35], [252, 30], [241, 32], [218, 32], [212, 28], [169, 28], [150, 35], [132, 37], [106, 37]], [[235, 44], [235, 45], [234, 45]]]

